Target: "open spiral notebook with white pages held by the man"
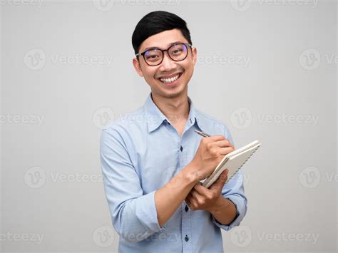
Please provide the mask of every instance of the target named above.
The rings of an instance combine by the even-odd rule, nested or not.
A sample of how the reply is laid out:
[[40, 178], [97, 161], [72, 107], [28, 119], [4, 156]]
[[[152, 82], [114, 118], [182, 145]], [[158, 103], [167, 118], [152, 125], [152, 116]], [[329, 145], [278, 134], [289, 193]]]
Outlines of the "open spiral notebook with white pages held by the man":
[[226, 184], [237, 173], [237, 171], [240, 170], [242, 165], [244, 165], [245, 162], [249, 160], [249, 158], [253, 155], [253, 153], [255, 153], [255, 151], [259, 147], [260, 142], [258, 142], [258, 140], [255, 140], [242, 148], [228, 153], [220, 161], [212, 174], [207, 177], [207, 179], [205, 179], [202, 185], [209, 188], [217, 180], [217, 178], [220, 177], [220, 174], [227, 168], [229, 172], [227, 172], [227, 181], [225, 182]]

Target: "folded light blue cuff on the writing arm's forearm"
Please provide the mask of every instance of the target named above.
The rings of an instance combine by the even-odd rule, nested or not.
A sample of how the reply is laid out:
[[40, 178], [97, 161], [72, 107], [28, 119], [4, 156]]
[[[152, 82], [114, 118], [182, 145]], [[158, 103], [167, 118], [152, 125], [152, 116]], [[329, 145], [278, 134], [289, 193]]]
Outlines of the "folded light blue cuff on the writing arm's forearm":
[[152, 232], [161, 232], [165, 226], [158, 224], [158, 213], [155, 206], [155, 190], [147, 195], [138, 197], [135, 203], [136, 217]]

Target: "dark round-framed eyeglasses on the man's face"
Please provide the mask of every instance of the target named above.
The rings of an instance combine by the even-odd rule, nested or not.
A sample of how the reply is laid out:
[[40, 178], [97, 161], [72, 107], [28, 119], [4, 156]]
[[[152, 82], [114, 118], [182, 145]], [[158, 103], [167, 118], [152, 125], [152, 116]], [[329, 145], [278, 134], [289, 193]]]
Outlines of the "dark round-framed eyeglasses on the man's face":
[[173, 61], [183, 61], [188, 56], [188, 46], [192, 45], [190, 43], [175, 43], [165, 50], [150, 48], [142, 53], [136, 53], [135, 56], [143, 56], [145, 63], [149, 66], [158, 66], [163, 61], [165, 51]]

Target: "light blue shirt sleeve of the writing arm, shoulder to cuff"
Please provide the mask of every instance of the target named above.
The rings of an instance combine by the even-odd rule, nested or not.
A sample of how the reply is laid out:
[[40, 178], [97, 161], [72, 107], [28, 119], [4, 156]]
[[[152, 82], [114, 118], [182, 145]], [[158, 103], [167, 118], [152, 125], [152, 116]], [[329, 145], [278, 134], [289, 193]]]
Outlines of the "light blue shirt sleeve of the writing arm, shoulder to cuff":
[[116, 129], [103, 129], [100, 155], [111, 220], [120, 237], [135, 243], [164, 229], [158, 224], [155, 191], [143, 195], [126, 143]]

